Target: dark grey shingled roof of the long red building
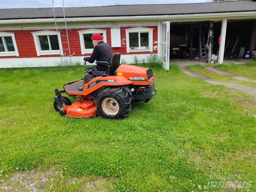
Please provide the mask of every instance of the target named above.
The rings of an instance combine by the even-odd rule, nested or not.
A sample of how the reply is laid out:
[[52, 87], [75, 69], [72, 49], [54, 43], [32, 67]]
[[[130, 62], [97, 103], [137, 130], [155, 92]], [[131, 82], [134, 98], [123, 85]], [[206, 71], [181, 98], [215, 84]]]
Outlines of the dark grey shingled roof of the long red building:
[[[229, 13], [256, 11], [256, 1], [224, 1], [209, 3], [153, 4], [153, 5], [113, 5], [93, 7], [65, 7], [66, 17], [109, 17], [182, 15], [204, 13]], [[55, 8], [55, 14], [63, 13], [63, 8]], [[63, 17], [63, 15], [57, 15]], [[54, 18], [53, 8], [13, 8], [0, 9], [0, 19]]]

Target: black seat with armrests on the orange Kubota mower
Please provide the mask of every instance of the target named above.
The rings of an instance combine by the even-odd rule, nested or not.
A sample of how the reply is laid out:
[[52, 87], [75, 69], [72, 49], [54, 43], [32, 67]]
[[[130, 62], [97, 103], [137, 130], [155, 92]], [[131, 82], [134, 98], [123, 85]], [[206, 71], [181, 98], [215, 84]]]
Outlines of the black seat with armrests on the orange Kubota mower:
[[106, 71], [93, 71], [92, 76], [96, 77], [101, 76], [102, 74], [107, 74], [108, 76], [114, 76], [115, 75], [115, 70], [120, 66], [120, 53], [113, 53], [110, 62], [108, 63], [107, 61], [97, 61], [96, 64], [101, 64], [107, 67]]

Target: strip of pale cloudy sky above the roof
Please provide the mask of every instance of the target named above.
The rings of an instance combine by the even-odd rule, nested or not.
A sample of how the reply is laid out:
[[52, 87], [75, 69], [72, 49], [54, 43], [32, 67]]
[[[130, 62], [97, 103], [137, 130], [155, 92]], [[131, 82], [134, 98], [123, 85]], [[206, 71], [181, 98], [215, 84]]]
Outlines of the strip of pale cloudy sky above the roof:
[[[136, 4], [174, 4], [174, 3], [203, 3], [210, 0], [64, 0], [65, 7], [81, 7], [81, 6], [101, 6], [101, 5], [136, 5]], [[62, 0], [54, 0], [55, 7], [62, 7]], [[34, 7], [52, 7], [52, 0], [1, 0], [0, 8], [34, 8]]]

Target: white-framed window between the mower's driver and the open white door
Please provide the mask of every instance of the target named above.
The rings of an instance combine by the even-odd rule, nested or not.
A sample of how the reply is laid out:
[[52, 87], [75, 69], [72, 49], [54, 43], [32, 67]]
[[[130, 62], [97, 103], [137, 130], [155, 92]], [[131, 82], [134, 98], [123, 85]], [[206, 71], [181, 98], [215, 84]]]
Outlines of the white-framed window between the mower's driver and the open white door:
[[[137, 47], [136, 49], [130, 48], [130, 41], [129, 41], [129, 33], [148, 33], [148, 45], [149, 49], [146, 49], [146, 47]], [[146, 27], [134, 27], [125, 29], [125, 35], [126, 35], [126, 52], [139, 52], [139, 51], [150, 51], [153, 52], [153, 28], [146, 28]], [[140, 38], [140, 36], [139, 36]], [[140, 40], [139, 40], [140, 45]]]

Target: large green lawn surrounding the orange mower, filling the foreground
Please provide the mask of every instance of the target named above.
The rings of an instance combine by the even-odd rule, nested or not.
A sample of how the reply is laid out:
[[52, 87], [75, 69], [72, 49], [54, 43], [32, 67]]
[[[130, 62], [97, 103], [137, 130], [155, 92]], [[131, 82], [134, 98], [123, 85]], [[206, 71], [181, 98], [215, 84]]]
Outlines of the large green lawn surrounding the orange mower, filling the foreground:
[[54, 88], [83, 70], [0, 70], [0, 189], [22, 191], [10, 178], [28, 171], [45, 191], [83, 191], [93, 181], [88, 191], [256, 191], [256, 108], [246, 94], [171, 65], [153, 69], [157, 95], [132, 103], [124, 120], [60, 116]]

